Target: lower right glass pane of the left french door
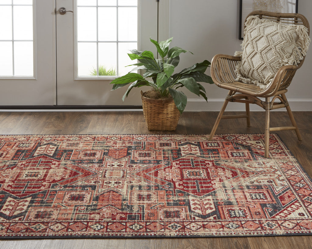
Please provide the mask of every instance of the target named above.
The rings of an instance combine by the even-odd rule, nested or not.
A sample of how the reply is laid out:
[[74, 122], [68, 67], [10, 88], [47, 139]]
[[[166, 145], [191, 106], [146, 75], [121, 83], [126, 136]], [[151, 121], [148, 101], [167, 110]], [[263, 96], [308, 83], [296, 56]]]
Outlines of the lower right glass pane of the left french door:
[[32, 41], [14, 42], [14, 72], [16, 76], [33, 75]]

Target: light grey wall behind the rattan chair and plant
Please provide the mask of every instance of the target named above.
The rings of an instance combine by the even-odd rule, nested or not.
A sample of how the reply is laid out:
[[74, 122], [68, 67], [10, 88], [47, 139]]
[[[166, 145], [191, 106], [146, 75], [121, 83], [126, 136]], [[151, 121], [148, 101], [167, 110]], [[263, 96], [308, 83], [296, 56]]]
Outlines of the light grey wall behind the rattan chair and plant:
[[[238, 39], [238, 0], [169, 0], [169, 33], [174, 37], [171, 46], [189, 50], [194, 55], [182, 54], [178, 69], [191, 66], [207, 59], [211, 61], [215, 54], [233, 55], [241, 50]], [[305, 15], [312, 26], [312, 1], [300, 0], [299, 13]], [[287, 98], [292, 110], [312, 111], [312, 45], [303, 66], [297, 71], [288, 88]], [[210, 71], [207, 70], [210, 75]], [[227, 90], [216, 85], [205, 85], [208, 97], [206, 101], [188, 94], [186, 110], [220, 110]], [[186, 92], [186, 91], [185, 91]], [[230, 103], [226, 110], [243, 110], [244, 104]], [[251, 110], [263, 110], [251, 105]]]

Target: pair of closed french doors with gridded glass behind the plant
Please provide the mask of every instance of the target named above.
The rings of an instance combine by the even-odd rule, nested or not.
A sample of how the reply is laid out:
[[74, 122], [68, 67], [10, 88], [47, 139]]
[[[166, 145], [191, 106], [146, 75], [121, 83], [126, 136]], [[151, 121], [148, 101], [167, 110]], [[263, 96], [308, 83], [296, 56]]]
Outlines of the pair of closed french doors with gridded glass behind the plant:
[[[21, 30], [25, 7], [31, 28]], [[0, 50], [12, 52], [0, 68], [12, 70], [0, 69], [0, 106], [122, 105], [126, 89], [110, 91], [109, 83], [135, 63], [128, 49], [153, 50], [149, 37], [157, 38], [156, 0], [1, 0], [1, 10], [11, 12], [2, 19], [12, 31], [0, 35]], [[140, 103], [133, 91], [124, 105]]]

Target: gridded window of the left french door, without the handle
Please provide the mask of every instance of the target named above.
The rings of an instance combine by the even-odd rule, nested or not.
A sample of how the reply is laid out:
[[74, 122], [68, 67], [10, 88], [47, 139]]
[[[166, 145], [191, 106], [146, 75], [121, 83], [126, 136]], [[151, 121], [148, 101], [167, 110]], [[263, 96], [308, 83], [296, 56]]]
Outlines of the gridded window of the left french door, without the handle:
[[32, 0], [0, 1], [0, 77], [33, 77]]

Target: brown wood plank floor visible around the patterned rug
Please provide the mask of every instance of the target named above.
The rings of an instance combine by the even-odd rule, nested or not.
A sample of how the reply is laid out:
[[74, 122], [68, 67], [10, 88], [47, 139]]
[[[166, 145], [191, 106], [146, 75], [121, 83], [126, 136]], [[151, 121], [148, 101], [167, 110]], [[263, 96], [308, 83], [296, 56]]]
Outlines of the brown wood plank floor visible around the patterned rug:
[[[239, 112], [227, 112], [238, 114]], [[312, 112], [294, 112], [303, 140], [293, 131], [277, 132], [312, 176]], [[209, 134], [216, 112], [184, 112], [174, 132], [149, 132], [142, 112], [2, 112], [0, 134]], [[264, 112], [221, 120], [216, 134], [263, 133]], [[286, 112], [271, 113], [271, 127], [291, 125]], [[312, 236], [177, 239], [0, 240], [0, 248], [312, 248]]]

